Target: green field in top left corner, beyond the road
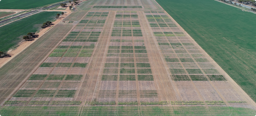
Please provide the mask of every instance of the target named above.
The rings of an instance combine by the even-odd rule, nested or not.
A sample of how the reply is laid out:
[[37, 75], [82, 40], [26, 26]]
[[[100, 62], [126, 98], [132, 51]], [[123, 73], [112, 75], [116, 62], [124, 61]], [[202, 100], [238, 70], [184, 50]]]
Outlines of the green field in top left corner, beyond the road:
[[1, 3], [0, 9], [32, 9], [64, 0], [7, 0]]

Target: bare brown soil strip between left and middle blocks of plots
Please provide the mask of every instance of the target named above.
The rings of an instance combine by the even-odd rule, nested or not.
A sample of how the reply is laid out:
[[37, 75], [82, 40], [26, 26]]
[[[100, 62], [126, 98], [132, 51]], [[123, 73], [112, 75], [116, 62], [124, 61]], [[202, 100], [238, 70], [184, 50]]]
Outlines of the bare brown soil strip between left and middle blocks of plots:
[[[111, 30], [111, 28], [112, 28], [114, 15], [115, 15], [115, 12], [109, 12], [109, 14], [108, 14], [108, 18], [106, 20], [106, 25], [104, 26], [102, 36], [99, 38], [99, 40], [98, 40], [99, 42], [98, 42], [97, 48], [95, 50], [95, 52], [98, 54], [94, 54], [94, 56], [92, 56], [94, 60], [92, 60], [91, 64], [89, 65], [89, 69], [86, 74], [86, 78], [88, 78], [88, 80], [86, 83], [83, 83], [83, 85], [81, 86], [81, 88], [84, 88], [84, 89], [81, 90], [80, 92], [84, 93], [84, 96], [85, 96], [82, 101], [83, 106], [86, 101], [92, 100], [96, 82], [100, 81], [100, 78], [99, 78], [100, 68], [104, 64], [102, 62], [104, 60], [103, 56], [107, 50], [106, 49], [107, 43], [110, 39], [109, 30]], [[82, 109], [81, 109], [81, 112], [82, 112]]]

